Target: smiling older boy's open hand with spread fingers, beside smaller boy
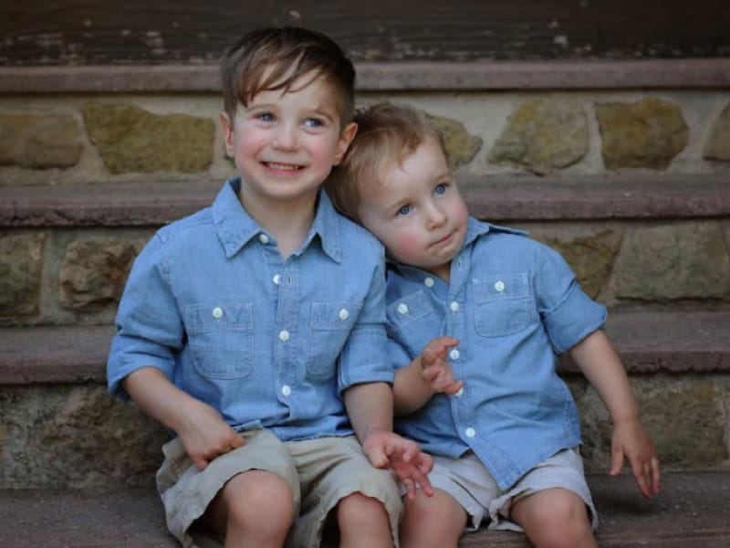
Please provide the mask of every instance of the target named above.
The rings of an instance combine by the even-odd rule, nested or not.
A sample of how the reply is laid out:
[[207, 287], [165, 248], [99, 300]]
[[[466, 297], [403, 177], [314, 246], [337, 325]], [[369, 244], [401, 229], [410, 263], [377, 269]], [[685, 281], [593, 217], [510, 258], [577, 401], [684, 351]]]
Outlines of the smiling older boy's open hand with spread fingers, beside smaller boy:
[[362, 444], [365, 454], [375, 468], [390, 468], [406, 486], [406, 496], [413, 499], [416, 485], [426, 496], [433, 495], [428, 473], [433, 469], [433, 458], [423, 453], [418, 444], [393, 432], [373, 432]]

